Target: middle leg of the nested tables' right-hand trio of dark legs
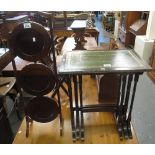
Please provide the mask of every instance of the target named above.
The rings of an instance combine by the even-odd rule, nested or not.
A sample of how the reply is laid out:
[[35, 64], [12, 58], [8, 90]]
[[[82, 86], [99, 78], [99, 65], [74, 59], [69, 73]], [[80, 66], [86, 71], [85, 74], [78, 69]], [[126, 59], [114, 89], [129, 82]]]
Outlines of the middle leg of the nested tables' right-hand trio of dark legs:
[[124, 132], [125, 139], [129, 138], [128, 137], [127, 123], [126, 123], [126, 115], [127, 115], [132, 79], [133, 79], [133, 75], [129, 74], [128, 75], [127, 88], [126, 88], [126, 95], [125, 95], [125, 103], [123, 105], [123, 132]]

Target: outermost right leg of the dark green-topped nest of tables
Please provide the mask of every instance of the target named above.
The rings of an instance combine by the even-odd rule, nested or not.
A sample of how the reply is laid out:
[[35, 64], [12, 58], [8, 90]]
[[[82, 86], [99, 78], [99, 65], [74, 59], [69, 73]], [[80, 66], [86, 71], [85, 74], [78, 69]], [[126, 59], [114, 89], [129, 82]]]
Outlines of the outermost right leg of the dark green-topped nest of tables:
[[139, 79], [139, 73], [136, 73], [135, 77], [134, 77], [134, 87], [133, 87], [133, 92], [132, 92], [131, 104], [130, 104], [130, 108], [129, 108], [129, 114], [128, 114], [128, 118], [126, 120], [127, 121], [128, 136], [129, 136], [129, 138], [132, 138], [131, 113], [132, 113], [132, 109], [133, 109], [133, 103], [134, 103], [134, 98], [135, 98], [135, 93], [136, 93], [136, 87], [137, 87], [138, 79]]

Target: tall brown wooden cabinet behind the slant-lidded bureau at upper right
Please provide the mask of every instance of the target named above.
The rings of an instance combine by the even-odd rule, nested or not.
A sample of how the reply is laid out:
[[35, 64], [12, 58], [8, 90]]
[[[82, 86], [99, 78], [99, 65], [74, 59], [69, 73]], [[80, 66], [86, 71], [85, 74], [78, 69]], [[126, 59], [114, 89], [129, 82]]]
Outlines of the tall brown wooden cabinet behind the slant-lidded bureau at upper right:
[[121, 11], [121, 21], [119, 28], [119, 39], [125, 46], [130, 42], [130, 26], [141, 18], [141, 11]]

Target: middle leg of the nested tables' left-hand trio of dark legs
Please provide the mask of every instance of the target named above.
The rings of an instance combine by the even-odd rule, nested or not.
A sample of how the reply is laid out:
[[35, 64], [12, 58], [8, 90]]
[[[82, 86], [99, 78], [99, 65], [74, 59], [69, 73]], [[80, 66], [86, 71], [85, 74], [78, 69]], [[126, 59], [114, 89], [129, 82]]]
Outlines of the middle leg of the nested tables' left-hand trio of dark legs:
[[80, 131], [79, 131], [78, 83], [76, 75], [73, 76], [73, 81], [74, 81], [75, 112], [76, 112], [76, 139], [79, 139]]

